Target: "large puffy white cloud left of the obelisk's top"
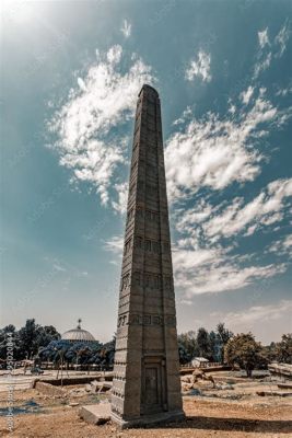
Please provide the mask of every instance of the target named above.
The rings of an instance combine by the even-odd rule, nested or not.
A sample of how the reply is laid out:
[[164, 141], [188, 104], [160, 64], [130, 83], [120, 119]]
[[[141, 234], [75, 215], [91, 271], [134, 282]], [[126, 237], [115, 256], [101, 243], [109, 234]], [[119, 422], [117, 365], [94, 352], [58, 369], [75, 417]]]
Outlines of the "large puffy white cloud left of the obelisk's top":
[[121, 72], [121, 56], [118, 45], [98, 53], [50, 123], [60, 164], [72, 170], [74, 181], [91, 183], [103, 205], [109, 201], [109, 187], [118, 184], [117, 165], [125, 162], [124, 143], [114, 131], [132, 118], [142, 84], [153, 82], [151, 68], [138, 57]]

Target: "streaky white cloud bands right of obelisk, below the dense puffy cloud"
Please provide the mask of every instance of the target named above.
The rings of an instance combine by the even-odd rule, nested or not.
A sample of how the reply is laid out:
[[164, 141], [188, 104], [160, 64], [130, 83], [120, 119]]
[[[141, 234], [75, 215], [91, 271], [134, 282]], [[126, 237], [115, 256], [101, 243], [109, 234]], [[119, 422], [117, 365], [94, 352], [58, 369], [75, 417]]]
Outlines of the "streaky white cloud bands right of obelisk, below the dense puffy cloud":
[[[175, 223], [182, 238], [177, 240], [173, 261], [175, 284], [183, 299], [237, 290], [285, 272], [287, 263], [260, 265], [253, 263], [256, 254], [236, 254], [235, 238], [240, 233], [252, 235], [260, 228], [281, 221], [291, 195], [292, 178], [277, 180], [246, 204], [240, 197], [231, 204], [223, 201], [217, 206], [201, 200], [195, 208], [177, 210]], [[220, 241], [229, 238], [233, 241], [224, 247], [224, 242]], [[269, 251], [287, 255], [291, 244], [291, 238], [285, 238]]]

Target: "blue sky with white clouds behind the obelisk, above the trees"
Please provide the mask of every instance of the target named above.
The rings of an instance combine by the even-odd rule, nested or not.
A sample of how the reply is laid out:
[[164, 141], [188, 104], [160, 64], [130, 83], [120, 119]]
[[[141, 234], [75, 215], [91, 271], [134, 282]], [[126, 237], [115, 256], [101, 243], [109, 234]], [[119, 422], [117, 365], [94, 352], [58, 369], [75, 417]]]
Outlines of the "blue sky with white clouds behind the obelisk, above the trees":
[[115, 332], [147, 82], [162, 100], [178, 331], [291, 332], [292, 3], [1, 9], [1, 325]]

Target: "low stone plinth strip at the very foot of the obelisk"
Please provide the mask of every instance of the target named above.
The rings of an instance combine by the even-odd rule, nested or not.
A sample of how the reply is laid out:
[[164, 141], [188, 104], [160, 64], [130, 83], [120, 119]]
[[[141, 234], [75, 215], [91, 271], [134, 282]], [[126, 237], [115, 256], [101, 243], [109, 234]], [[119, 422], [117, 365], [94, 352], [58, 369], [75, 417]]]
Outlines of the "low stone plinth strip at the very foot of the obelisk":
[[184, 411], [162, 412], [160, 414], [143, 415], [138, 418], [124, 419], [112, 412], [110, 419], [121, 429], [129, 429], [168, 422], [182, 422], [185, 419], [185, 413]]

